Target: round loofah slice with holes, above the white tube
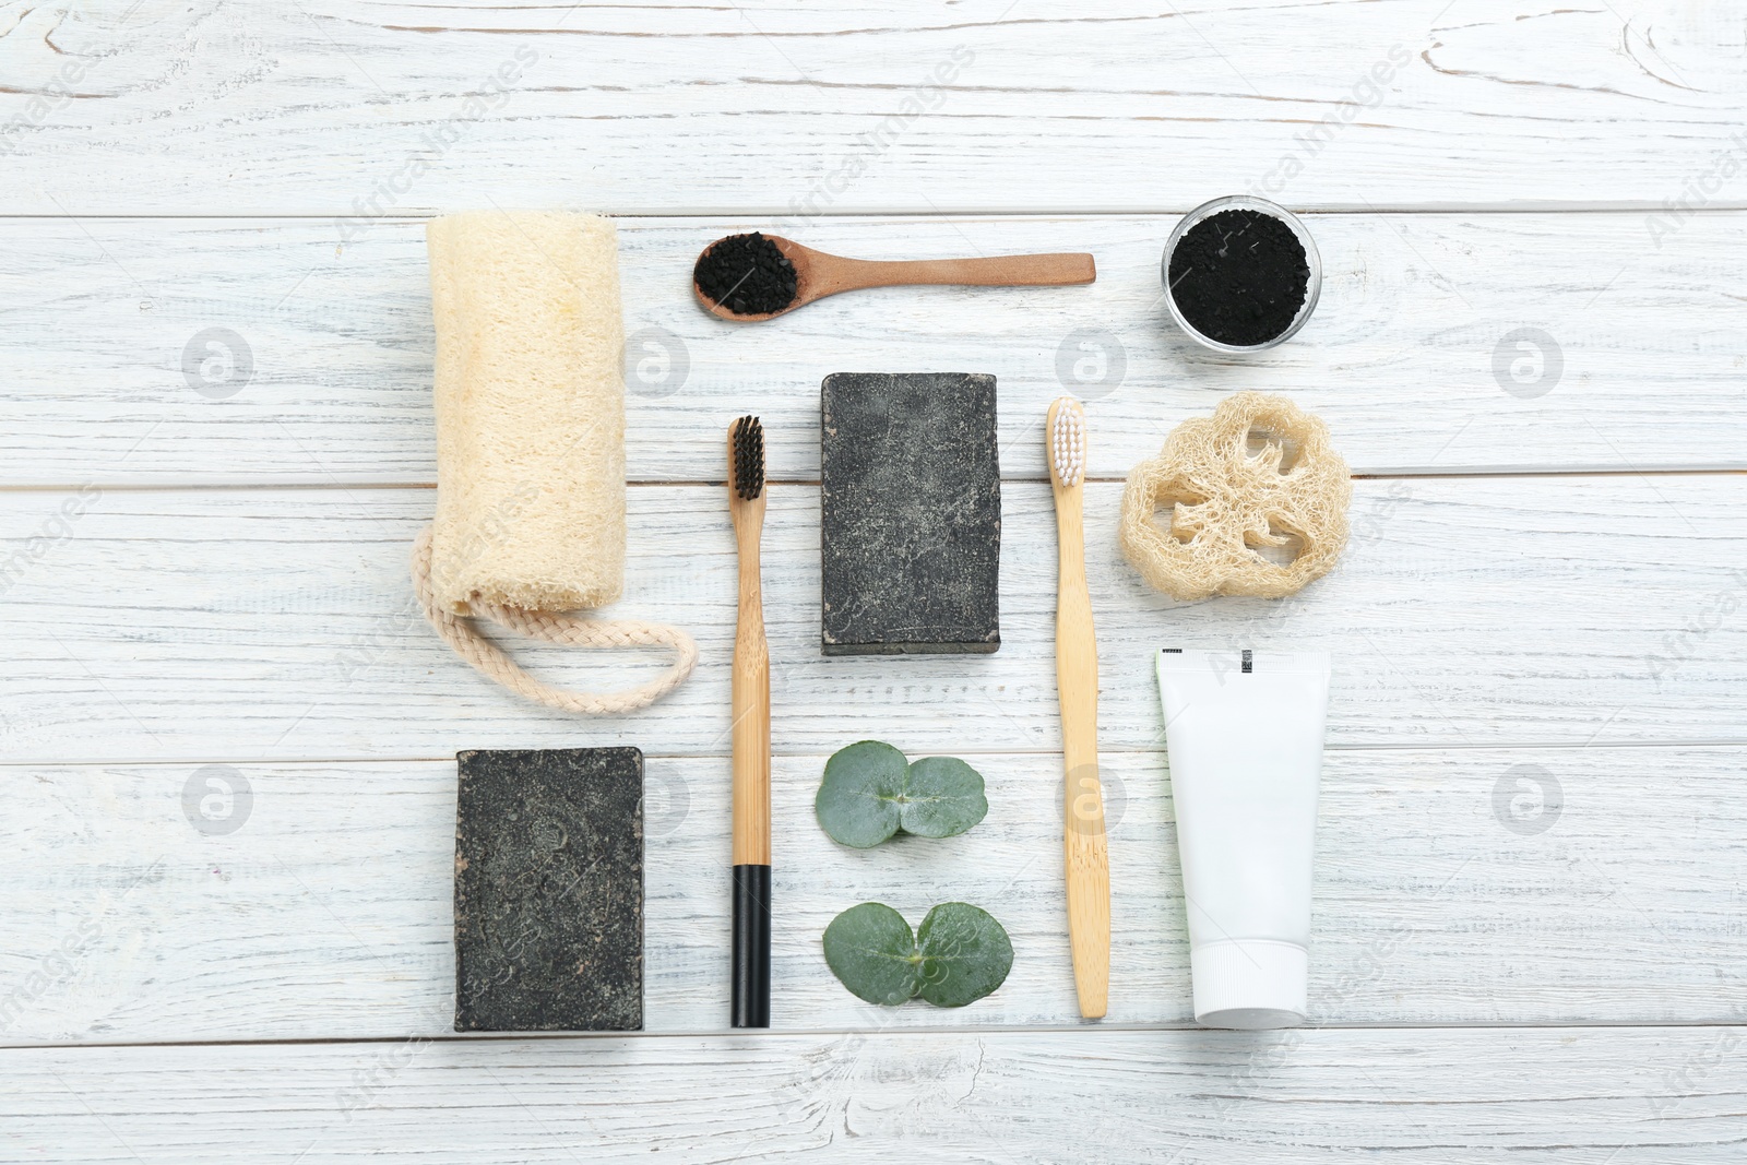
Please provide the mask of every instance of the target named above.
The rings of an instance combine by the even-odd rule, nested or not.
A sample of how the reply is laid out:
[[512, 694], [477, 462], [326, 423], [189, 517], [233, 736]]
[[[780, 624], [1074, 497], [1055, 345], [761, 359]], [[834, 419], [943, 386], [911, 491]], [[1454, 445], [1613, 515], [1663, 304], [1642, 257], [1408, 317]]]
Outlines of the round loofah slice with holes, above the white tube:
[[1333, 569], [1350, 501], [1347, 463], [1319, 417], [1284, 396], [1237, 393], [1134, 466], [1118, 540], [1172, 599], [1279, 599]]

